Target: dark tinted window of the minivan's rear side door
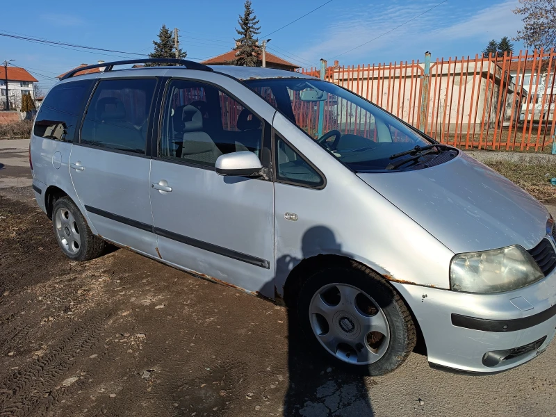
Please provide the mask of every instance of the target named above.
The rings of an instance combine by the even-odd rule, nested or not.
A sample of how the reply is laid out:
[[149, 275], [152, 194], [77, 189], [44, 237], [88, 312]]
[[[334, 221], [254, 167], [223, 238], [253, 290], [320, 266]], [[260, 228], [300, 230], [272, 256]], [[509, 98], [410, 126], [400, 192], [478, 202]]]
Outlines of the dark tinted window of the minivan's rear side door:
[[87, 108], [81, 143], [145, 154], [156, 79], [100, 81]]

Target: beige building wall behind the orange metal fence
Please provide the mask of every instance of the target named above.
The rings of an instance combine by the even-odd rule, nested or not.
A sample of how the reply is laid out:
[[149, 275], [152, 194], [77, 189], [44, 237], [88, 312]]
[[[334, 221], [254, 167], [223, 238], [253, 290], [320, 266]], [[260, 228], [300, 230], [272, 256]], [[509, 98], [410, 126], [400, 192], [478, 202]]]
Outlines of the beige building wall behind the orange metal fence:
[[[418, 126], [423, 74], [423, 63], [386, 65], [335, 70], [330, 81]], [[500, 88], [502, 78], [500, 67], [494, 63], [432, 63], [426, 131], [442, 134], [449, 129], [452, 134], [457, 129], [467, 132], [475, 126], [493, 124], [497, 113], [509, 119], [516, 86], [510, 82]], [[517, 112], [515, 108], [514, 113]]]

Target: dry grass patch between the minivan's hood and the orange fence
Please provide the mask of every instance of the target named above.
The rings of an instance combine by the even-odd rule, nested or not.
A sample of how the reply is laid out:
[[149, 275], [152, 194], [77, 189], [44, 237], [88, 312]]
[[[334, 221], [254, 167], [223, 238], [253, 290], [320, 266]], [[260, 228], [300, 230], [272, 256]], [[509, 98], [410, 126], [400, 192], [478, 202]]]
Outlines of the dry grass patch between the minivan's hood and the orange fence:
[[556, 203], [556, 186], [550, 183], [551, 178], [556, 178], [556, 163], [509, 161], [488, 161], [485, 163], [540, 202]]

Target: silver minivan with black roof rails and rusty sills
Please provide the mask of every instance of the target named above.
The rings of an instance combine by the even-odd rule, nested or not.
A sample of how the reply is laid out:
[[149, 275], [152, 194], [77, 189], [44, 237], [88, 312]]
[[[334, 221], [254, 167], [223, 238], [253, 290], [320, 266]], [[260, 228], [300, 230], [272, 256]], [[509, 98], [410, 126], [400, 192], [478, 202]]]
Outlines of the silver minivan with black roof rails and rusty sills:
[[149, 62], [173, 66], [79, 68], [40, 107], [33, 189], [70, 259], [109, 242], [285, 303], [315, 352], [368, 375], [418, 338], [464, 373], [546, 349], [556, 231], [537, 200], [338, 85]]

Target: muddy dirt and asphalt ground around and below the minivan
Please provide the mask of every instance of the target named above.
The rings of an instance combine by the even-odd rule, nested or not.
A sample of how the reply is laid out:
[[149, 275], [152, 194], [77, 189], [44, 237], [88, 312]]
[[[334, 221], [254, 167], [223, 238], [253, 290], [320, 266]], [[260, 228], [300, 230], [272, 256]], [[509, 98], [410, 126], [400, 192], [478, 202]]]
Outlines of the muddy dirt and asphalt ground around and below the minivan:
[[0, 415], [554, 416], [555, 343], [506, 373], [384, 377], [318, 361], [286, 309], [114, 250], [67, 261], [0, 141]]

